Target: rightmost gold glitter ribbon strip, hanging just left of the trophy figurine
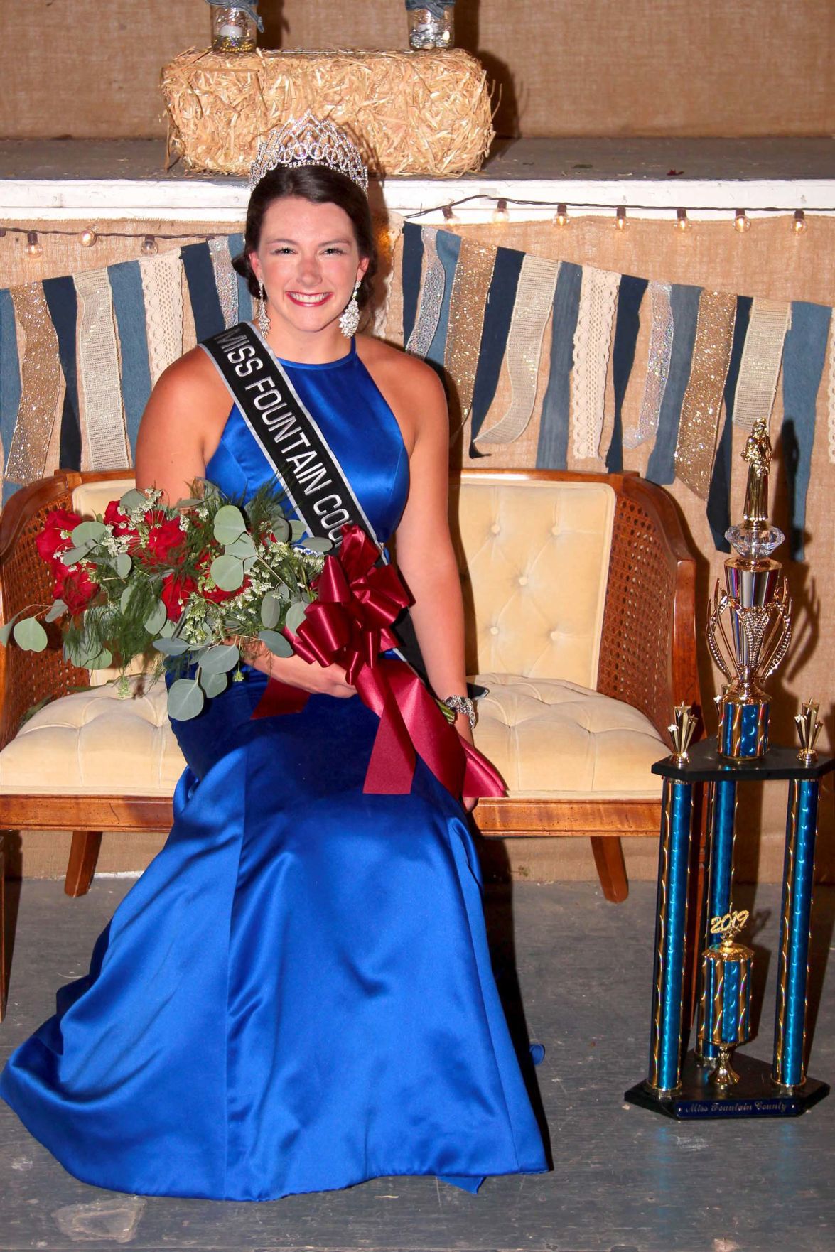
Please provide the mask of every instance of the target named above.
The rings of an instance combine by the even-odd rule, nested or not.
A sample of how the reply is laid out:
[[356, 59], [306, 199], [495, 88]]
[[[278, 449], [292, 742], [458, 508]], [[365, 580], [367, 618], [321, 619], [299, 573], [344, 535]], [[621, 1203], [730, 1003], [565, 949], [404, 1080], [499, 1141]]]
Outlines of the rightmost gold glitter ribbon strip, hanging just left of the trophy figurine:
[[701, 293], [690, 382], [679, 423], [676, 477], [702, 500], [707, 500], [714, 467], [735, 314], [735, 295]]

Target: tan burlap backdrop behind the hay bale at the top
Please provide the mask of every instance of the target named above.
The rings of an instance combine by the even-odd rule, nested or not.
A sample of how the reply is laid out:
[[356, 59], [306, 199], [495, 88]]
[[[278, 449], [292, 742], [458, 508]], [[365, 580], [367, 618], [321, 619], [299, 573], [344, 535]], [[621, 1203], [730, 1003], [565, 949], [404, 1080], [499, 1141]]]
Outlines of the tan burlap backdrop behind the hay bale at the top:
[[[262, 0], [264, 48], [406, 48], [399, 0]], [[461, 0], [499, 134], [826, 135], [831, 0]], [[3, 5], [0, 136], [164, 133], [160, 66], [207, 46], [204, 0]]]

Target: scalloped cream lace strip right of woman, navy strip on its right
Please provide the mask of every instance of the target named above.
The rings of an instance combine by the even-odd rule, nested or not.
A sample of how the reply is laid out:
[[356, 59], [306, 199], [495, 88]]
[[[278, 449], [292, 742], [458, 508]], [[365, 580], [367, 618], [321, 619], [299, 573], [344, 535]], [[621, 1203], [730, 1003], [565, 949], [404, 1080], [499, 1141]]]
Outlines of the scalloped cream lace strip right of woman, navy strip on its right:
[[606, 371], [620, 274], [583, 265], [580, 312], [575, 331], [575, 371], [571, 388], [571, 442], [575, 457], [597, 456], [603, 429]]

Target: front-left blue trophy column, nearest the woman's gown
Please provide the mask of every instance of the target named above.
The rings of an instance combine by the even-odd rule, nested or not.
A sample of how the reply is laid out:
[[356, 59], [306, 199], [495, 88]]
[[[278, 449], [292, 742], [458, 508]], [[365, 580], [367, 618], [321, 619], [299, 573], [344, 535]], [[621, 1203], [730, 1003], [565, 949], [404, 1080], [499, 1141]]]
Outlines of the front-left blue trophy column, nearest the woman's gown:
[[692, 814], [692, 782], [665, 779], [647, 1078], [655, 1092], [675, 1090], [681, 1082]]

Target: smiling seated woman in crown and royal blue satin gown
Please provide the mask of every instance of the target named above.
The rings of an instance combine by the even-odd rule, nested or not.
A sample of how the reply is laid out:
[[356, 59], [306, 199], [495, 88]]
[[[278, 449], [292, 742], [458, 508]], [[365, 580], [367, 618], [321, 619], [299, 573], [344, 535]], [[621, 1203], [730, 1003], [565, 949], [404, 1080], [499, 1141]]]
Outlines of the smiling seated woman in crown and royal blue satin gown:
[[[264, 339], [247, 329], [249, 352], [227, 339], [228, 364], [247, 378], [258, 359], [280, 378], [303, 418], [280, 426], [300, 483], [315, 481], [310, 432], [324, 441], [344, 483], [333, 500], [314, 491], [313, 508], [334, 536], [341, 492], [378, 542], [397, 531], [428, 681], [469, 739], [443, 391], [422, 362], [353, 337], [376, 264], [366, 172], [341, 131], [305, 116], [270, 139], [254, 180], [239, 268], [264, 294]], [[262, 402], [265, 434], [227, 383], [202, 348], [165, 372], [139, 487], [175, 501], [205, 477], [248, 498], [274, 480], [278, 401]], [[253, 719], [270, 676], [308, 699]], [[188, 767], [169, 840], [90, 974], [0, 1078], [76, 1177], [270, 1199], [389, 1174], [476, 1191], [486, 1174], [546, 1168], [464, 810], [419, 757], [411, 794], [366, 794], [377, 726], [341, 667], [270, 654], [174, 724]]]

